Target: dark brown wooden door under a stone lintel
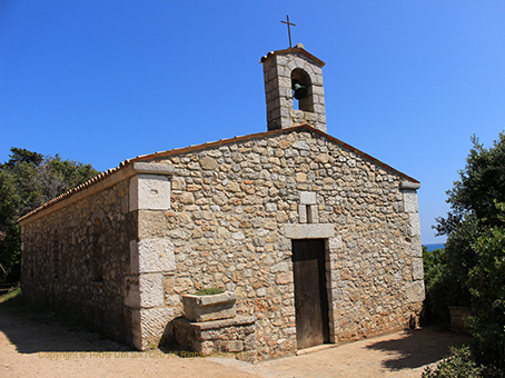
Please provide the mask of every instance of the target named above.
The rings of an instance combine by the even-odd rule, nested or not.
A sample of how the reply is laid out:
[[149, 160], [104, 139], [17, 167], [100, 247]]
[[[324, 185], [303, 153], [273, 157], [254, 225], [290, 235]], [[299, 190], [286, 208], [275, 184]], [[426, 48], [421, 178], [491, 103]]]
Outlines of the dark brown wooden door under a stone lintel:
[[325, 240], [293, 240], [296, 341], [298, 349], [329, 342]]

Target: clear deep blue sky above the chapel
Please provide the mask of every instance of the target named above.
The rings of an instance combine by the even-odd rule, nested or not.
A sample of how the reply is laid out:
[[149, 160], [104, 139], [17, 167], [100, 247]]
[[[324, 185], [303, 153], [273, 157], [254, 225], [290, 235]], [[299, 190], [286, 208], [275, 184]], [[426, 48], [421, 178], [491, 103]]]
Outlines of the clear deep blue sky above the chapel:
[[476, 135], [505, 129], [503, 1], [0, 0], [0, 161], [117, 167], [266, 131], [261, 56], [326, 62], [328, 133], [418, 179], [424, 243]]

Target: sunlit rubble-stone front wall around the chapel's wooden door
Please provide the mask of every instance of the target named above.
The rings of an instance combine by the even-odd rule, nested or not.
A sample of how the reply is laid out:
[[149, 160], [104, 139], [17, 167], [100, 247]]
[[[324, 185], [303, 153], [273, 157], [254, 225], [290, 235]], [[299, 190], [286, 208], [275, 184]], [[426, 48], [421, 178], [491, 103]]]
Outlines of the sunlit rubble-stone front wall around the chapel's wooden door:
[[164, 276], [174, 317], [184, 315], [181, 295], [226, 288], [237, 295], [239, 315], [258, 319], [260, 358], [294, 354], [294, 236], [286, 226], [307, 221], [304, 197], [315, 198], [308, 237], [329, 232], [331, 341], [415, 324], [422, 247], [415, 186], [404, 177], [307, 129], [152, 162], [175, 169], [171, 208], [139, 211], [139, 240], [174, 245], [176, 269]]

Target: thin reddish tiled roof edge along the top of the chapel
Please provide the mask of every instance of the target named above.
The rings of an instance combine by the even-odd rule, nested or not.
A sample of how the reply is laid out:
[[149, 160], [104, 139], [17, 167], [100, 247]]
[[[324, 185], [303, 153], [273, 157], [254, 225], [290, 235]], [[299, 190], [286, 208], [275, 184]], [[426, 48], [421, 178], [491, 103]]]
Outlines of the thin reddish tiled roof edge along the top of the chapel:
[[238, 143], [238, 142], [244, 142], [244, 141], [248, 141], [248, 140], [253, 140], [253, 139], [261, 139], [261, 138], [266, 138], [266, 137], [273, 137], [273, 136], [277, 136], [277, 135], [289, 133], [289, 132], [294, 132], [294, 131], [304, 131], [304, 130], [305, 131], [309, 131], [309, 132], [318, 133], [318, 135], [323, 136], [324, 138], [326, 138], [326, 139], [335, 142], [335, 143], [344, 147], [345, 149], [350, 150], [354, 153], [359, 155], [363, 158], [365, 158], [367, 160], [370, 160], [370, 161], [374, 161], [375, 163], [382, 166], [383, 168], [395, 172], [396, 175], [400, 176], [402, 178], [404, 178], [407, 181], [419, 183], [419, 181], [417, 181], [416, 179], [414, 179], [414, 178], [412, 178], [412, 177], [409, 177], [409, 176], [407, 176], [407, 175], [394, 169], [393, 167], [389, 167], [388, 165], [386, 165], [386, 163], [375, 159], [374, 157], [372, 157], [372, 156], [369, 156], [369, 155], [367, 155], [367, 153], [354, 148], [353, 146], [349, 146], [349, 145], [343, 142], [341, 140], [339, 140], [337, 138], [334, 138], [334, 137], [331, 137], [331, 136], [329, 136], [329, 135], [327, 135], [327, 133], [325, 133], [325, 132], [323, 132], [320, 130], [317, 130], [317, 129], [313, 128], [308, 123], [305, 123], [305, 125], [295, 126], [295, 127], [288, 128], [288, 129], [277, 129], [277, 130], [270, 130], [270, 131], [265, 131], [265, 132], [251, 133], [251, 135], [247, 135], [247, 136], [242, 136], [242, 137], [221, 139], [221, 140], [218, 140], [218, 141], [211, 141], [211, 142], [207, 142], [207, 143], [204, 143], [204, 145], [195, 145], [195, 146], [189, 146], [189, 147], [184, 147], [184, 148], [176, 148], [176, 149], [168, 150], [168, 151], [155, 152], [155, 153], [150, 153], [150, 155], [141, 155], [141, 156], [138, 156], [137, 158], [125, 160], [125, 161], [122, 161], [119, 165], [119, 167], [109, 169], [109, 170], [107, 170], [107, 171], [93, 177], [92, 179], [86, 181], [85, 183], [81, 183], [80, 186], [68, 190], [67, 192], [62, 193], [61, 196], [58, 196], [58, 197], [53, 198], [49, 202], [42, 205], [41, 207], [39, 207], [39, 208], [34, 209], [33, 211], [27, 213], [26, 216], [21, 217], [18, 221], [24, 221], [28, 218], [32, 217], [33, 215], [39, 213], [40, 211], [42, 211], [42, 210], [44, 210], [44, 209], [47, 209], [49, 207], [52, 207], [56, 203], [59, 203], [59, 202], [72, 197], [72, 196], [76, 196], [79, 192], [82, 192], [82, 191], [87, 190], [87, 189], [90, 189], [90, 188], [93, 188], [96, 186], [99, 186], [106, 179], [109, 179], [112, 176], [119, 173], [120, 171], [127, 169], [128, 167], [130, 167], [135, 162], [150, 161], [150, 160], [156, 160], [156, 159], [160, 159], [160, 158], [167, 158], [167, 157], [170, 157], [170, 156], [188, 153], [188, 152], [194, 152], [194, 151], [200, 151], [200, 150], [205, 150], [205, 149], [208, 149], [208, 148], [216, 148], [216, 147], [220, 147], [220, 146], [225, 146], [225, 145]]

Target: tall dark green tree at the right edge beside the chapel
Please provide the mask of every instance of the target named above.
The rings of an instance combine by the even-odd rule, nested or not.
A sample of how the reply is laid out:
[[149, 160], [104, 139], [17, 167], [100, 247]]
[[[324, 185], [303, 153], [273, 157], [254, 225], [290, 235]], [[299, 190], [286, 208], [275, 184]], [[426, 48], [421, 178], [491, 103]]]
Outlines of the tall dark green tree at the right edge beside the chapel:
[[[474, 358], [505, 367], [505, 136], [491, 148], [473, 137], [474, 146], [447, 191], [450, 211], [437, 219], [438, 235], [447, 235], [438, 276], [447, 305], [472, 305]], [[429, 270], [429, 261], [427, 261]], [[429, 278], [429, 275], [428, 275]], [[438, 282], [439, 284], [439, 282]], [[427, 285], [428, 286], [428, 285]], [[454, 298], [454, 299], [453, 299]]]

